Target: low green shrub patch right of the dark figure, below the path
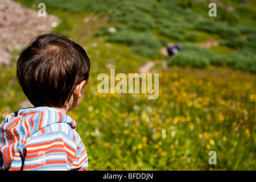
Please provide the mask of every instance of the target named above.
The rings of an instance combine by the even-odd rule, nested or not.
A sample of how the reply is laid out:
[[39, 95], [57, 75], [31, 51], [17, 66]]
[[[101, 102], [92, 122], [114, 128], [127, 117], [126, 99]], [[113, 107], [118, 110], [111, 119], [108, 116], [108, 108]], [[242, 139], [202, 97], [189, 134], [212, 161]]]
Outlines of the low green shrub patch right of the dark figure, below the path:
[[168, 65], [183, 67], [207, 68], [210, 64], [229, 66], [242, 71], [256, 73], [256, 55], [248, 49], [241, 49], [236, 53], [218, 55], [206, 48], [184, 44], [177, 55], [168, 59]]

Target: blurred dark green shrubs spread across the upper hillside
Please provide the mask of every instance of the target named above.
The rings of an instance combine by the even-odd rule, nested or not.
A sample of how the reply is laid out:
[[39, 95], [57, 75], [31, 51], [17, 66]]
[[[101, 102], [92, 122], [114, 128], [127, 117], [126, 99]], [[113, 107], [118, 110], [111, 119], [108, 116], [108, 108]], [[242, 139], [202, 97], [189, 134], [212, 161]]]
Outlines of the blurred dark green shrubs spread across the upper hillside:
[[[38, 4], [39, 0], [19, 0], [26, 6]], [[241, 1], [221, 1], [217, 5], [217, 16], [209, 17], [209, 1], [192, 0], [44, 0], [47, 10], [63, 9], [73, 13], [93, 11], [108, 16], [107, 24], [100, 26], [95, 36], [105, 36], [106, 41], [125, 44], [130, 50], [151, 59], [158, 59], [160, 47], [167, 42], [181, 41], [183, 49], [169, 65], [208, 67], [208, 65], [228, 65], [236, 69], [255, 72], [255, 5]], [[55, 28], [57, 32], [69, 30], [65, 19]], [[110, 32], [109, 27], [117, 32]], [[218, 55], [195, 44], [200, 40], [200, 32], [207, 32], [209, 39], [218, 39], [221, 46], [236, 49], [236, 53]], [[207, 36], [208, 36], [207, 35]]]

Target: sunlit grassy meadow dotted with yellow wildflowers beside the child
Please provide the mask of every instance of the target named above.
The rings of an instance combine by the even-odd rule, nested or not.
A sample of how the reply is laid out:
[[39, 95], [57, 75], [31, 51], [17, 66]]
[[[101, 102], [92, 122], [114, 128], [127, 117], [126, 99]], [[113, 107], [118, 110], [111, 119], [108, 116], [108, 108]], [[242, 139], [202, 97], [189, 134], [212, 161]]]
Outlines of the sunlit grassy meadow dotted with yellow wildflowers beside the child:
[[[100, 73], [109, 75], [109, 64], [115, 72], [127, 75], [139, 72], [149, 58], [138, 55], [134, 47], [130, 49], [130, 45], [106, 41], [106, 35], [95, 36], [94, 33], [98, 33], [102, 24], [106, 23], [105, 16], [91, 11], [79, 14], [47, 10], [65, 22], [56, 31], [67, 33], [81, 44], [91, 60], [90, 80], [85, 87], [84, 98], [79, 107], [68, 113], [77, 122], [77, 132], [88, 152], [89, 170], [256, 169], [254, 73], [234, 70], [226, 64], [221, 64], [222, 67], [210, 65], [204, 69], [176, 65], [163, 69], [156, 64], [151, 72], [159, 73], [157, 100], [148, 100], [148, 94], [100, 94], [97, 92], [100, 83], [97, 76]], [[94, 22], [85, 24], [85, 17], [93, 17]], [[112, 20], [115, 18], [114, 15], [111, 17]], [[180, 16], [179, 20], [184, 20], [184, 17]], [[161, 19], [157, 20], [164, 23]], [[113, 22], [108, 22], [108, 26], [115, 25]], [[147, 22], [141, 25], [144, 27], [140, 28], [148, 26]], [[171, 27], [170, 24], [168, 26]], [[183, 23], [182, 26], [187, 25]], [[85, 35], [84, 31], [88, 28], [90, 32]], [[188, 32], [190, 38], [192, 33]], [[208, 33], [197, 31], [199, 40], [196, 42], [200, 42], [203, 36], [220, 40], [217, 35]], [[114, 38], [117, 40], [117, 37]], [[193, 50], [189, 45], [189, 51], [202, 51], [199, 48]], [[137, 47], [137, 51], [138, 48], [141, 47]], [[218, 53], [222, 50], [221, 55], [224, 55], [223, 50], [228, 53], [236, 51], [223, 45], [212, 49], [217, 49]], [[205, 53], [204, 50], [202, 52]], [[200, 57], [201, 52], [196, 56]], [[230, 58], [228, 55], [218, 61], [227, 57]], [[158, 63], [164, 59], [161, 55], [155, 59], [153, 55], [152, 58]], [[242, 70], [249, 70], [249, 61], [248, 67]], [[10, 67], [0, 68], [1, 121], [6, 114], [20, 109], [20, 102], [26, 100], [16, 84], [15, 64], [13, 59]], [[239, 60], [236, 64], [241, 66]], [[209, 151], [216, 151], [217, 164], [208, 163]]]

